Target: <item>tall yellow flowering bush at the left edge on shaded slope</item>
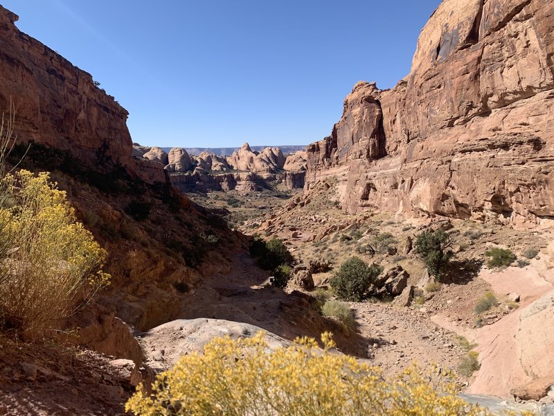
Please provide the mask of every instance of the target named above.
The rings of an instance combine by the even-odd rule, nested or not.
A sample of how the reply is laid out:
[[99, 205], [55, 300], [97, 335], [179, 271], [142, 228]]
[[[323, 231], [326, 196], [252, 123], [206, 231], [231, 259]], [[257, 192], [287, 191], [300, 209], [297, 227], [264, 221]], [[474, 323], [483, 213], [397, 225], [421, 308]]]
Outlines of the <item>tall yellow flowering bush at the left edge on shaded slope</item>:
[[109, 283], [106, 252], [79, 223], [48, 173], [1, 179], [0, 229], [10, 249], [0, 263], [0, 313], [24, 333], [43, 331]]

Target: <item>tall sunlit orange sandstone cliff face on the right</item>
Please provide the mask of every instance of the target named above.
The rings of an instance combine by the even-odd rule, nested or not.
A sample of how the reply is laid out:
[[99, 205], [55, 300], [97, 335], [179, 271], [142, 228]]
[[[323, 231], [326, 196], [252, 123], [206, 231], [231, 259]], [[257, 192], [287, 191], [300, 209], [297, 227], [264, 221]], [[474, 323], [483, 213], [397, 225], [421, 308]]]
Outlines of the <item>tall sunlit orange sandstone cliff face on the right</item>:
[[554, 4], [444, 0], [409, 76], [357, 83], [307, 184], [336, 176], [346, 212], [554, 218]]

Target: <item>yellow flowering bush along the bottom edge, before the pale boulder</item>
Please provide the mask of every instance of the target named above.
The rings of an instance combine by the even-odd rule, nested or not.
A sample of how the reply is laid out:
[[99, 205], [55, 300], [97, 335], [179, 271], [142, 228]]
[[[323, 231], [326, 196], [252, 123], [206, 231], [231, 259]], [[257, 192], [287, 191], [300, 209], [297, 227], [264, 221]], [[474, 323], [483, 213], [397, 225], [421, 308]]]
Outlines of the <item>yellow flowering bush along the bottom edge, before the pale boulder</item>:
[[378, 367], [323, 349], [312, 338], [269, 349], [263, 334], [215, 338], [204, 354], [180, 358], [139, 385], [127, 401], [135, 415], [488, 415], [456, 396], [454, 374], [436, 380], [411, 367], [386, 380]]

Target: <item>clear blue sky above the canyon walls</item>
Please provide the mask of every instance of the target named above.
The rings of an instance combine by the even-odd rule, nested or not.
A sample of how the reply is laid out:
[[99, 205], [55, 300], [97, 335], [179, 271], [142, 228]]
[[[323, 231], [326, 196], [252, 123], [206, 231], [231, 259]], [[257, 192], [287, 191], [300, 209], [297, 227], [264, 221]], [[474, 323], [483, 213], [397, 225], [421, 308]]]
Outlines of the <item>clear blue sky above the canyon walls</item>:
[[309, 144], [359, 80], [409, 73], [440, 0], [0, 0], [150, 146]]

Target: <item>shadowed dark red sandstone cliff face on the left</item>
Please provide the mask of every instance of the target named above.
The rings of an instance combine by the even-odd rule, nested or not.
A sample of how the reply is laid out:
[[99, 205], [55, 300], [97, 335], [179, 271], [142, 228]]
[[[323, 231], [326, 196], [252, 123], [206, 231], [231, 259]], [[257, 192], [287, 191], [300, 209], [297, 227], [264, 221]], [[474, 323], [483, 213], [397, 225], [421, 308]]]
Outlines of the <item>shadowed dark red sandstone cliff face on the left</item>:
[[21, 141], [69, 150], [83, 163], [131, 164], [127, 111], [92, 76], [15, 26], [0, 6], [0, 111], [15, 105]]

